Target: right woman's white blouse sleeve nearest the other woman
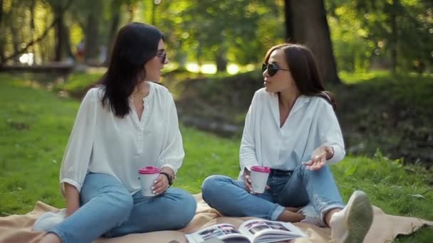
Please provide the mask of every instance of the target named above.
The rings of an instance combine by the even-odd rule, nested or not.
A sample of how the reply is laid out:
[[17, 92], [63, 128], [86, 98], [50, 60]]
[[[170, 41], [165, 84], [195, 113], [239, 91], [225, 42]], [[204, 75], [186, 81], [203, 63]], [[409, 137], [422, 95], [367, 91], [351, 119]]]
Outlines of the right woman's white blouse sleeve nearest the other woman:
[[239, 149], [239, 161], [241, 165], [241, 171], [244, 168], [251, 170], [251, 166], [258, 165], [256, 156], [256, 142], [254, 141], [256, 119], [258, 119], [257, 102], [258, 93], [254, 94], [251, 101], [251, 105], [246, 113], [244, 133], [241, 139], [241, 148]]

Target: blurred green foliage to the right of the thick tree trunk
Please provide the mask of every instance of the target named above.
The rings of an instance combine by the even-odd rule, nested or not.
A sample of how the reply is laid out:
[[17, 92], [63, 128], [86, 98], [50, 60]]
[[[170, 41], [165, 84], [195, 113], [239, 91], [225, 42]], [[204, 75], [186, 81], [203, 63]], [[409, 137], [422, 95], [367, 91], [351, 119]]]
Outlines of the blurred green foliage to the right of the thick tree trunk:
[[327, 5], [340, 70], [391, 68], [393, 49], [397, 70], [432, 68], [432, 1], [330, 0]]

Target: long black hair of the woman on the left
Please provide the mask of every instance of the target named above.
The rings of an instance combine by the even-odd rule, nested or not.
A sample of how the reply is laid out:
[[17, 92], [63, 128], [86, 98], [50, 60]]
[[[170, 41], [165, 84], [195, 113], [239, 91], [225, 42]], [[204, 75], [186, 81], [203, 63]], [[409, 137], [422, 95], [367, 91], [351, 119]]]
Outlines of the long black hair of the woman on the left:
[[108, 70], [100, 80], [105, 88], [103, 106], [108, 104], [116, 117], [129, 114], [128, 99], [145, 79], [144, 65], [157, 55], [162, 38], [160, 30], [145, 23], [129, 23], [120, 28]]

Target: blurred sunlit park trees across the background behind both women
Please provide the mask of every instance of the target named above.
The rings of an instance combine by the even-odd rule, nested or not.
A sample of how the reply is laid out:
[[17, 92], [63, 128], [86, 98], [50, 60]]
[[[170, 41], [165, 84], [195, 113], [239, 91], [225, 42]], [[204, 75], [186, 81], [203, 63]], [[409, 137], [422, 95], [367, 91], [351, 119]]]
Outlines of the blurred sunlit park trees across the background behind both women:
[[106, 65], [125, 23], [166, 34], [171, 68], [244, 72], [272, 45], [308, 45], [320, 73], [431, 72], [429, 0], [0, 0], [0, 65]]

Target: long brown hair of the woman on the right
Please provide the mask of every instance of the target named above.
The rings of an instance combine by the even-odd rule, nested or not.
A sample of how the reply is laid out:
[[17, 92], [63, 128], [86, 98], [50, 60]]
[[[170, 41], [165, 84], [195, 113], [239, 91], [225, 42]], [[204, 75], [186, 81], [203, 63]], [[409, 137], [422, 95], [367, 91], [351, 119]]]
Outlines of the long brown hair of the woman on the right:
[[333, 106], [334, 110], [337, 108], [333, 95], [326, 91], [323, 86], [317, 63], [310, 49], [299, 44], [284, 43], [276, 45], [268, 50], [264, 63], [268, 63], [269, 57], [274, 50], [283, 50], [288, 69], [302, 95], [322, 97]]

